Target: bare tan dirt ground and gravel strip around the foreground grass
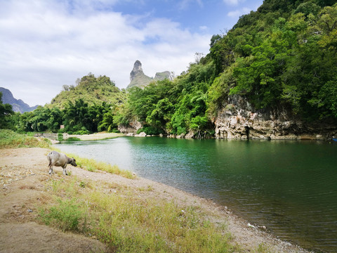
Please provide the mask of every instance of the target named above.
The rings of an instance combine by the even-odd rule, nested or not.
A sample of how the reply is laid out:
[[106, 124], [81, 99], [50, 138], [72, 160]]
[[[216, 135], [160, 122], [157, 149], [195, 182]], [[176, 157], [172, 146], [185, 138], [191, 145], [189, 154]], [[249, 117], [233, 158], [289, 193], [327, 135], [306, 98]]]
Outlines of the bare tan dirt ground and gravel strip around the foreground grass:
[[[74, 233], [62, 233], [54, 228], [34, 222], [35, 209], [48, 199], [44, 182], [50, 179], [43, 148], [0, 149], [0, 252], [105, 252], [103, 243]], [[123, 168], [127, 169], [127, 168]], [[54, 167], [62, 174], [62, 168]], [[263, 228], [249, 223], [230, 212], [227, 207], [216, 205], [211, 200], [190, 195], [161, 183], [142, 179], [126, 179], [104, 171], [86, 171], [70, 164], [67, 171], [78, 179], [109, 182], [129, 188], [147, 188], [145, 197], [175, 200], [185, 205], [194, 205], [209, 214], [213, 221], [227, 222], [234, 241], [246, 252], [253, 252], [258, 245], [265, 245], [270, 252], [307, 252], [296, 245], [275, 238]]]

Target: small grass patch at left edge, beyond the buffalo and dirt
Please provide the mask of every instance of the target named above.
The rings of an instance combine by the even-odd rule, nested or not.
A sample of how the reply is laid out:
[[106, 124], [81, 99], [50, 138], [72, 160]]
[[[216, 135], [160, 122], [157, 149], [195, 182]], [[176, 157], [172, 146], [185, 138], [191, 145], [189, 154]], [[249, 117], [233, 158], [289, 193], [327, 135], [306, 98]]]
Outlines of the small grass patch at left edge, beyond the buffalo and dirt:
[[47, 138], [35, 138], [15, 131], [0, 129], [0, 148], [50, 148]]

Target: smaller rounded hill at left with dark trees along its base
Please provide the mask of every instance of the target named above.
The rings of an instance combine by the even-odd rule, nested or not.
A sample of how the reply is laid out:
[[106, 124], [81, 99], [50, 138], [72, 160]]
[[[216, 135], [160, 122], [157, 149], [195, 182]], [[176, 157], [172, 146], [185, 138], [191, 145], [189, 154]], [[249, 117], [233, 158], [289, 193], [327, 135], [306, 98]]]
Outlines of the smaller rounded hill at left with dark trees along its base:
[[[63, 89], [51, 104], [18, 115], [11, 129], [70, 134], [117, 131], [113, 117], [125, 103], [126, 93], [120, 91], [109, 77], [88, 74], [77, 86], [63, 86]], [[61, 125], [64, 129], [60, 129]]]

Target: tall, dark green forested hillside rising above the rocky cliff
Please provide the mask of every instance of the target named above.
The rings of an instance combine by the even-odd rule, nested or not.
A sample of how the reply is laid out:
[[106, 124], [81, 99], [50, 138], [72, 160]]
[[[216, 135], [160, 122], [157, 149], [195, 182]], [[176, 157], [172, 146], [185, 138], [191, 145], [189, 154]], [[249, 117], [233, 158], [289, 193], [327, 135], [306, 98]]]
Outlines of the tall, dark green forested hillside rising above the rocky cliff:
[[129, 93], [128, 109], [150, 132], [212, 133], [229, 96], [256, 110], [286, 108], [306, 122], [337, 118], [337, 5], [334, 1], [264, 1], [210, 53], [173, 82]]

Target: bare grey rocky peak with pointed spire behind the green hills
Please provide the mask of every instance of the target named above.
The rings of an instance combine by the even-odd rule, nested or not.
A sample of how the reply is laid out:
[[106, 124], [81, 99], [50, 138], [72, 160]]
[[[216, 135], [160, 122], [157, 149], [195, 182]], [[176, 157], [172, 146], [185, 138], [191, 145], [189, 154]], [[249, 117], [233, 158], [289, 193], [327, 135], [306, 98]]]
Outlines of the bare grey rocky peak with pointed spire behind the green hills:
[[144, 74], [142, 69], [142, 63], [139, 60], [136, 60], [135, 64], [133, 65], [133, 70], [130, 73], [130, 84], [126, 87], [126, 89], [130, 89], [134, 86], [143, 88], [150, 84], [152, 81], [159, 81], [164, 79], [173, 80], [174, 74], [173, 72], [164, 71], [164, 72], [157, 72], [154, 78], [148, 77]]

